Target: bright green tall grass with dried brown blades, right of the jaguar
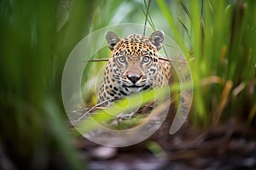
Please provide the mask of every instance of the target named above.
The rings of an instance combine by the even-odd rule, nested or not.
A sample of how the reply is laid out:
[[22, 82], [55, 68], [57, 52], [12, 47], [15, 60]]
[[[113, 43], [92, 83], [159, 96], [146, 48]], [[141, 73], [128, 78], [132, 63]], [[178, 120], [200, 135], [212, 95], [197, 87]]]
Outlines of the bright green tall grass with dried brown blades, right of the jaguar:
[[217, 125], [234, 116], [255, 122], [256, 2], [157, 3], [190, 61], [195, 83], [192, 122]]

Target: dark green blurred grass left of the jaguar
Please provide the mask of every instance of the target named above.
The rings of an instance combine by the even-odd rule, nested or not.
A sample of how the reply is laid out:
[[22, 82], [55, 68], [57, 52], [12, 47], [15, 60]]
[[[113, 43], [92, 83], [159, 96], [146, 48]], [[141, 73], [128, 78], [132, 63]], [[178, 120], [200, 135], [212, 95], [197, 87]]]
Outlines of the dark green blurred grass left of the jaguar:
[[68, 133], [61, 74], [89, 31], [92, 3], [0, 2], [0, 169], [84, 169]]

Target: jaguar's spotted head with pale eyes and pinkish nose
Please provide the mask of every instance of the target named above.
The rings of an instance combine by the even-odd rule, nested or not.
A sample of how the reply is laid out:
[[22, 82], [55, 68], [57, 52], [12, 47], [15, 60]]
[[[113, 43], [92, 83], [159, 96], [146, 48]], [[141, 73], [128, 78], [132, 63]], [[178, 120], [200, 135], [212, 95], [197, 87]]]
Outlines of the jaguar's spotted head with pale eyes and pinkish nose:
[[138, 34], [124, 37], [121, 40], [115, 36], [112, 33], [107, 35], [107, 40], [110, 40], [108, 45], [112, 49], [110, 62], [113, 62], [114, 77], [121, 86], [130, 91], [141, 91], [150, 87], [154, 74], [157, 72], [160, 45], [156, 47], [154, 46], [155, 39], [153, 42], [152, 37], [146, 38]]

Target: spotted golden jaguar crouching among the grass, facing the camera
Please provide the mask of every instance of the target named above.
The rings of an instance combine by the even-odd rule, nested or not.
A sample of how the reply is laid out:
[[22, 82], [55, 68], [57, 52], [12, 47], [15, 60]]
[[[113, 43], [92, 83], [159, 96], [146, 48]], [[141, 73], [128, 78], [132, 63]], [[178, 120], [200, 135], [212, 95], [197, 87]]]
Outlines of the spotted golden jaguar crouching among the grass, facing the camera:
[[159, 54], [164, 37], [163, 31], [154, 31], [149, 37], [131, 34], [123, 38], [108, 31], [111, 57], [99, 88], [98, 105], [109, 106], [115, 99], [170, 83], [172, 65]]

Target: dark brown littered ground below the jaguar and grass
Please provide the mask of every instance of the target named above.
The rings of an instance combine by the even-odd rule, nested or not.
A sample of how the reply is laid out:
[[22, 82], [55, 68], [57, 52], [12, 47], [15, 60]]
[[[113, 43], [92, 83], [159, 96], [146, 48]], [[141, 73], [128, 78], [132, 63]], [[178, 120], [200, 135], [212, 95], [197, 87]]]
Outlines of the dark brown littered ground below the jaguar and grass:
[[[256, 169], [253, 127], [232, 120], [202, 130], [186, 123], [173, 135], [169, 127], [165, 122], [146, 141], [124, 148], [100, 146], [82, 137], [77, 145], [88, 168], [96, 170]], [[160, 151], [154, 153], [149, 144]]]

